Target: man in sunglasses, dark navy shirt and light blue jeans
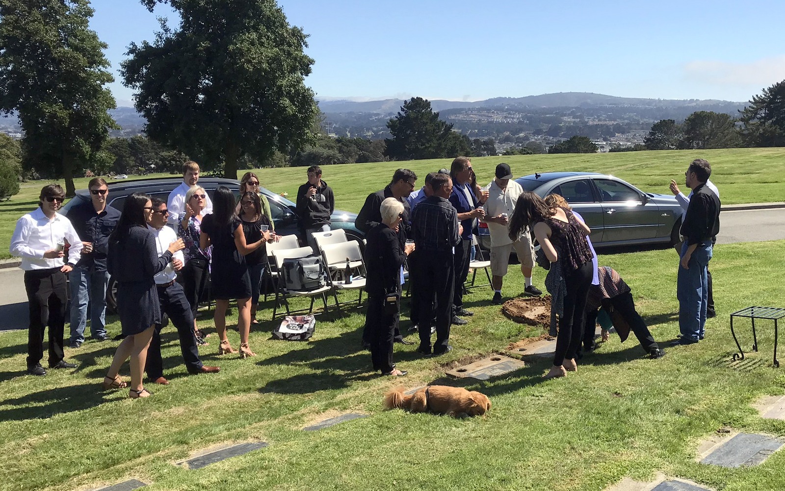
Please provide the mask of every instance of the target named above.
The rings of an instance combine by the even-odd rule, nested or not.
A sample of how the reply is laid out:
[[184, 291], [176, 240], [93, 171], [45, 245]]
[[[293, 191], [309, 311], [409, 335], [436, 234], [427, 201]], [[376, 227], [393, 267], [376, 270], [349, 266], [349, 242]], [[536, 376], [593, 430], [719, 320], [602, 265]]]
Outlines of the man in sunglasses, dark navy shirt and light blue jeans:
[[79, 348], [85, 342], [87, 306], [90, 307], [90, 332], [93, 339], [108, 339], [106, 288], [109, 273], [106, 270], [106, 255], [109, 235], [117, 226], [120, 211], [107, 206], [109, 187], [104, 179], [90, 179], [87, 188], [90, 191], [89, 202], [68, 211], [68, 220], [82, 240], [82, 258], [68, 273], [71, 283], [71, 348]]

